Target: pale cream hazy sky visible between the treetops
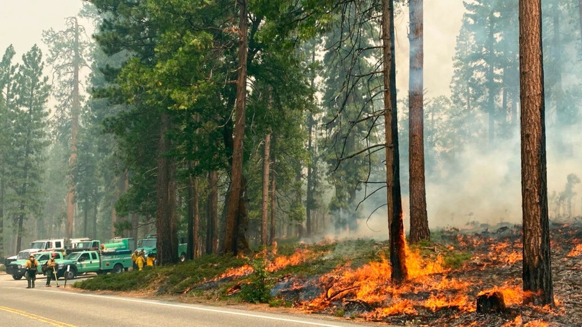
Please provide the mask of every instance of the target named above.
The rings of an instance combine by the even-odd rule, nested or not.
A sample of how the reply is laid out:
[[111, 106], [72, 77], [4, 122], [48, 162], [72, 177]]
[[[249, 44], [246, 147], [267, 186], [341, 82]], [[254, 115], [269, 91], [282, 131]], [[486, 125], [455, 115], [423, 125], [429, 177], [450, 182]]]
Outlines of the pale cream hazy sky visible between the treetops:
[[[17, 61], [35, 43], [47, 52], [42, 31], [51, 27], [65, 28], [65, 17], [75, 16], [83, 5], [81, 0], [0, 0], [0, 55], [8, 45], [16, 49]], [[408, 86], [408, 12], [395, 19], [396, 65], [398, 65], [399, 98], [406, 96]], [[428, 96], [449, 92], [453, 73], [456, 35], [459, 33], [463, 5], [459, 0], [424, 2], [424, 67]], [[84, 24], [89, 30], [89, 24]]]

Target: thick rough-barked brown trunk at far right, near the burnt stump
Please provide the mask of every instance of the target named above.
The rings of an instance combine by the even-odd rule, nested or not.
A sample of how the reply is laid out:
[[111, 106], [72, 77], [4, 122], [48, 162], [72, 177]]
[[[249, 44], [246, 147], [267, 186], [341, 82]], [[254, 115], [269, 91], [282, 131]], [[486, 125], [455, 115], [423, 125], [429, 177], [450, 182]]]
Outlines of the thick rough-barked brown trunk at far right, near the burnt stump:
[[519, 1], [524, 303], [553, 305], [541, 0]]

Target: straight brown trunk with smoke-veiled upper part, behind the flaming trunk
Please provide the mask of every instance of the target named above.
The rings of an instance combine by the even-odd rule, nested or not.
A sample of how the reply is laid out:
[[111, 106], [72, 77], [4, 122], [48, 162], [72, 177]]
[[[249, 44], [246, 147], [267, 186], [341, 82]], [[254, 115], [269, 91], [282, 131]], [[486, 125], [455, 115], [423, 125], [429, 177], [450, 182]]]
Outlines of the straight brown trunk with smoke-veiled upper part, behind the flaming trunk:
[[410, 0], [410, 243], [430, 240], [424, 179], [423, 0]]

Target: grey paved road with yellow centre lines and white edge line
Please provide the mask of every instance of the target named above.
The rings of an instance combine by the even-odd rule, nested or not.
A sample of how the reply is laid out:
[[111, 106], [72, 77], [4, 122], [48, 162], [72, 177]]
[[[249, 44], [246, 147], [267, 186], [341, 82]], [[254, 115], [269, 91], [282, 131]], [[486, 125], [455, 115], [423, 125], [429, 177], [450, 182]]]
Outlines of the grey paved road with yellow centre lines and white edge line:
[[[0, 325], [2, 326], [361, 326], [326, 315], [290, 315], [147, 300], [95, 293], [71, 292], [69, 287], [35, 289], [26, 280], [0, 273]], [[366, 324], [368, 325], [368, 324]], [[371, 324], [370, 324], [371, 325]]]

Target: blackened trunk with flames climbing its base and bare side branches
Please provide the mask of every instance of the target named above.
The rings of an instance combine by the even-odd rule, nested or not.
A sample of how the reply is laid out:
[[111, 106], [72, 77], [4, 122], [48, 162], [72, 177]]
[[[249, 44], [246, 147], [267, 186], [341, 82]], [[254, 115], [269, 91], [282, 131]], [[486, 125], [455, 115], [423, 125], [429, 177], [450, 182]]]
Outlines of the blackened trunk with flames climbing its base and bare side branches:
[[400, 162], [398, 151], [398, 113], [396, 112], [396, 63], [394, 58], [394, 2], [382, 1], [382, 41], [384, 56], [384, 119], [386, 137], [386, 198], [390, 234], [392, 281], [407, 279]]

